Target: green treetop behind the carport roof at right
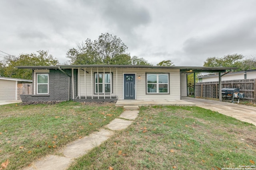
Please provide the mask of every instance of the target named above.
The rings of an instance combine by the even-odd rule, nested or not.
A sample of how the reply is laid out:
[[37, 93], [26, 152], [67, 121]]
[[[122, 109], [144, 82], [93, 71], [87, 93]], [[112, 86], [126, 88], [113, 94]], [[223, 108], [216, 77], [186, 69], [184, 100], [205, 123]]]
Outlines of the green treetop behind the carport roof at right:
[[206, 59], [206, 61], [204, 61], [204, 66], [206, 66], [206, 67], [238, 67], [238, 68], [240, 68], [243, 58], [244, 58], [244, 56], [242, 54], [225, 55], [222, 58], [209, 57]]

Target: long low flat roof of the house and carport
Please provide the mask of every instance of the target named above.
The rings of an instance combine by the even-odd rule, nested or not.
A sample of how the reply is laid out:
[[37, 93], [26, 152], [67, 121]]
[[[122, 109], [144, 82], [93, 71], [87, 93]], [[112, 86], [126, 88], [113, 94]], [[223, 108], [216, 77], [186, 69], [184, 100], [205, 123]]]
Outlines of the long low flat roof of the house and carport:
[[236, 67], [202, 67], [202, 66], [148, 66], [148, 65], [56, 65], [56, 66], [16, 66], [16, 68], [30, 69], [67, 69], [67, 68], [159, 68], [180, 69], [181, 72], [226, 72]]

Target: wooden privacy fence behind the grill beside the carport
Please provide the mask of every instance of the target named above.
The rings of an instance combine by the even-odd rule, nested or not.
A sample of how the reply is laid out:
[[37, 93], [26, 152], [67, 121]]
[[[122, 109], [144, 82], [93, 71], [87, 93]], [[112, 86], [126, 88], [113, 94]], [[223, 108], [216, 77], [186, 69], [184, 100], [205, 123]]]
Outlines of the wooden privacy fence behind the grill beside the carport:
[[[222, 81], [222, 88], [239, 88], [244, 93], [240, 101], [256, 103], [256, 79], [226, 80]], [[196, 83], [196, 96], [204, 98], [219, 98], [219, 82]]]

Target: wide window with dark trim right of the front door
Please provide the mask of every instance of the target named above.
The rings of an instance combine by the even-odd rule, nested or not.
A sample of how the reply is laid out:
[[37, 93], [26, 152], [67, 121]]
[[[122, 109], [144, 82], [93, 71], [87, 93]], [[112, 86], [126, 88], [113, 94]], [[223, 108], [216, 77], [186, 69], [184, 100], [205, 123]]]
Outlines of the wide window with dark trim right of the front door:
[[147, 74], [147, 94], [168, 94], [169, 74]]

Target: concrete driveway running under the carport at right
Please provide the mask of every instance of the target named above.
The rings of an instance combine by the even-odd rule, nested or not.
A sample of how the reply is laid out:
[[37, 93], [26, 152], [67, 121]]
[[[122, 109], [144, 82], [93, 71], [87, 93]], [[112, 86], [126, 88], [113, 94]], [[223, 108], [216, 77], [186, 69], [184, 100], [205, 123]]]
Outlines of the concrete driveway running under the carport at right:
[[194, 103], [196, 106], [203, 107], [205, 109], [218, 111], [224, 115], [252, 123], [256, 126], [256, 107], [188, 97], [182, 98], [182, 100]]

